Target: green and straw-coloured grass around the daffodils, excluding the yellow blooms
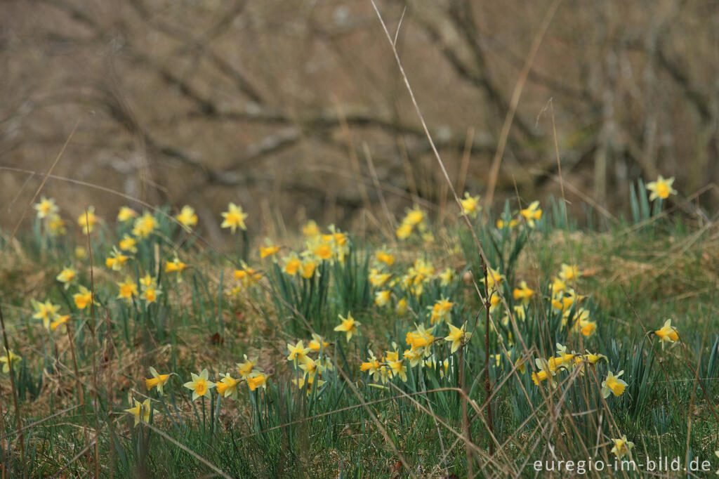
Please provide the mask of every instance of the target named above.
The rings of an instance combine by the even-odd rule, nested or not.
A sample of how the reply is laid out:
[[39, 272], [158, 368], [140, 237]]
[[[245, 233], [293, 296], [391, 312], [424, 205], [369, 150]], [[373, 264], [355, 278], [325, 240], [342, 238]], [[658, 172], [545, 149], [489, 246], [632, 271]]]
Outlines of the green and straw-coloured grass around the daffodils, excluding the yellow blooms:
[[[0, 236], [0, 304], [10, 349], [22, 356], [14, 362], [14, 392], [26, 429], [21, 445], [13, 389], [4, 373], [4, 477], [45, 477], [61, 470], [61, 475], [94, 475], [97, 458], [103, 477], [200, 477], [218, 471], [242, 478], [464, 477], [470, 468], [467, 450], [479, 477], [534, 477], [533, 462], [553, 455], [613, 462], [610, 439], [623, 434], [634, 442], [638, 463], [697, 456], [710, 460], [715, 470], [716, 229], [677, 213], [661, 214], [661, 206], [644, 200], [641, 183], [631, 198], [630, 220], [598, 222], [587, 210], [587, 218], [569, 217], [567, 222], [563, 203], [551, 199], [544, 202], [544, 215], [534, 229], [520, 222], [498, 230], [491, 214], [475, 219], [490, 266], [505, 275], [500, 292], [513, 316], [503, 321], [507, 311], [500, 303], [490, 315], [489, 332], [482, 299], [467, 280], [469, 271], [481, 278], [479, 250], [462, 224], [433, 228], [425, 219], [424, 232], [434, 234], [429, 243], [416, 231], [401, 242], [350, 232], [344, 260], [336, 255], [332, 261], [318, 260], [310, 278], [288, 275], [283, 268], [281, 257], [290, 249], [301, 250], [300, 240], [284, 245], [278, 263], [273, 257], [260, 260], [257, 250], [247, 247], [252, 232], [237, 247], [219, 251], [203, 246], [201, 232], [181, 229], [168, 216], [169, 209], [155, 211], [157, 228], [138, 242], [122, 271], [106, 268], [104, 259], [131, 225], [96, 227], [90, 236], [92, 265], [88, 257], [75, 257], [76, 245], [87, 249], [81, 234], [52, 237], [45, 222], [37, 220], [10, 239], [8, 227]], [[513, 213], [510, 205], [503, 213]], [[604, 223], [609, 224], [595, 227]], [[375, 251], [381, 247], [393, 252], [393, 265], [378, 265]], [[181, 282], [177, 273], [164, 269], [175, 254], [189, 265]], [[260, 271], [262, 279], [242, 286], [234, 277], [234, 270], [244, 268], [239, 257]], [[417, 259], [434, 265], [421, 295], [408, 293], [401, 280]], [[570, 306], [565, 325], [562, 313], [552, 308], [549, 285], [562, 263], [584, 273], [574, 286], [586, 296], [581, 306], [596, 323], [589, 337], [572, 332], [577, 305]], [[65, 290], [55, 276], [67, 265], [78, 270], [78, 280]], [[392, 299], [383, 307], [375, 304], [379, 288], [369, 280], [370, 269], [380, 266], [400, 279], [386, 286]], [[454, 274], [443, 284], [439, 274], [446, 268]], [[154, 304], [116, 298], [117, 282], [126, 277], [137, 282], [145, 273], [162, 291]], [[80, 310], [72, 295], [76, 285], [90, 288], [91, 277], [96, 305], [94, 311]], [[536, 291], [525, 319], [513, 309], [519, 304], [513, 288], [521, 280]], [[482, 284], [478, 286], [483, 293]], [[60, 305], [63, 314], [70, 314], [71, 334], [63, 327], [55, 332], [42, 327], [42, 321], [32, 318], [30, 298]], [[395, 310], [400, 298], [408, 299], [405, 314]], [[457, 327], [467, 322], [472, 332], [461, 347], [461, 363], [459, 353], [452, 354], [449, 342], [441, 339], [449, 329], [440, 324], [432, 346], [436, 362], [408, 367], [406, 382], [394, 377], [377, 383], [360, 370], [368, 350], [381, 359], [395, 343], [401, 358], [407, 332], [416, 324], [429, 325], [431, 308], [441, 298], [454, 303], [449, 321]], [[334, 327], [339, 315], [349, 313], [361, 326], [348, 342]], [[668, 318], [679, 329], [679, 341], [662, 348], [648, 332]], [[303, 371], [288, 362], [286, 345], [298, 340], [307, 345], [313, 332], [331, 343], [321, 355], [333, 368], [322, 373], [322, 386], [314, 383], [301, 390], [292, 380]], [[583, 375], [576, 368], [560, 368], [557, 388], [546, 381], [536, 386], [534, 360], [554, 355], [557, 343], [569, 351], [601, 353], [607, 361], [586, 365]], [[210, 391], [192, 401], [183, 387], [191, 373], [207, 368], [211, 380], [226, 372], [238, 378], [236, 363], [243, 355], [259, 358], [258, 365], [270, 374], [267, 388], [249, 391], [241, 383], [237, 399]], [[495, 355], [500, 355], [498, 362]], [[528, 358], [526, 373], [515, 367], [521, 356]], [[174, 373], [164, 396], [145, 388], [150, 366]], [[493, 434], [487, 417], [487, 366]], [[459, 368], [464, 368], [464, 383], [459, 382]], [[600, 383], [609, 371], [620, 370], [626, 391], [604, 399]], [[466, 418], [462, 390], [468, 398]], [[152, 401], [151, 427], [133, 426], [124, 409], [132, 406], [132, 398], [147, 397]], [[462, 433], [464, 426], [471, 443]], [[588, 475], [603, 477], [596, 471]]]

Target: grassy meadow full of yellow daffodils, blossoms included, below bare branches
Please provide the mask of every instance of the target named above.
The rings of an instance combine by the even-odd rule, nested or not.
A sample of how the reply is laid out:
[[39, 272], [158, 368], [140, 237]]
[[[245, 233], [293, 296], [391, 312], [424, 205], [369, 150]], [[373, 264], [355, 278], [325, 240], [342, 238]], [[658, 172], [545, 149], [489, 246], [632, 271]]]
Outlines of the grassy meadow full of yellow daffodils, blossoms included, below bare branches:
[[190, 205], [40, 195], [0, 234], [2, 477], [714, 475], [715, 217], [625, 194], [272, 238], [238, 201], [231, 247]]

